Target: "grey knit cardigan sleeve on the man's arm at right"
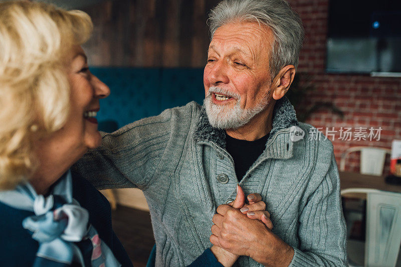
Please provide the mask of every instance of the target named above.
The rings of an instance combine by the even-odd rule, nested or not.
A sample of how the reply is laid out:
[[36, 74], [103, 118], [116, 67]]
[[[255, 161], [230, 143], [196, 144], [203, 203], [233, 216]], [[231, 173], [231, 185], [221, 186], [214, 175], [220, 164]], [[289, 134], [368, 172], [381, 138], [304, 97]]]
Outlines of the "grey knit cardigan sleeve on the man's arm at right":
[[346, 229], [337, 163], [330, 167], [299, 216], [299, 246], [290, 266], [347, 266]]

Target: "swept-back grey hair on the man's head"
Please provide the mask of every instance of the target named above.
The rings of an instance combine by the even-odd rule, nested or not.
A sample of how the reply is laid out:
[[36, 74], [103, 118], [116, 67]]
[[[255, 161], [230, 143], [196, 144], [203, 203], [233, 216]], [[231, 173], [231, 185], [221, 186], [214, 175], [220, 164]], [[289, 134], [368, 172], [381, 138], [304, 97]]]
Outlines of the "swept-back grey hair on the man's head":
[[209, 13], [211, 38], [217, 28], [231, 22], [256, 21], [274, 34], [270, 55], [272, 78], [286, 65], [298, 66], [304, 28], [299, 15], [286, 0], [223, 0]]

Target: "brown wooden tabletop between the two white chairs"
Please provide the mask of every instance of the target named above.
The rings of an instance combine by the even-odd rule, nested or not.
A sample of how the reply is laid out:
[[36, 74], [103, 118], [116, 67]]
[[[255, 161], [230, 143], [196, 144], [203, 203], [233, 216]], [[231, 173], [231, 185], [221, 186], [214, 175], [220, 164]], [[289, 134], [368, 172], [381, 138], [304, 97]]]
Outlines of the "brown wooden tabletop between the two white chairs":
[[[366, 175], [358, 172], [340, 171], [340, 188], [372, 188], [401, 193], [401, 185], [388, 184], [385, 176]], [[350, 194], [349, 197], [366, 198], [364, 194]]]

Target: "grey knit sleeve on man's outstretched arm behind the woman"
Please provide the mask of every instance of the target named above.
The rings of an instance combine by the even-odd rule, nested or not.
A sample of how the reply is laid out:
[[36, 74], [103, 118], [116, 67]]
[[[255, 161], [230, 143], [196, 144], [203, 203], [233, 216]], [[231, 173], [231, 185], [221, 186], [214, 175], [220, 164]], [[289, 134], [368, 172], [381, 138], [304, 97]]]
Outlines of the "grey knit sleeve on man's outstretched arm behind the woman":
[[152, 178], [171, 133], [171, 110], [102, 132], [102, 144], [72, 167], [97, 189], [143, 188]]

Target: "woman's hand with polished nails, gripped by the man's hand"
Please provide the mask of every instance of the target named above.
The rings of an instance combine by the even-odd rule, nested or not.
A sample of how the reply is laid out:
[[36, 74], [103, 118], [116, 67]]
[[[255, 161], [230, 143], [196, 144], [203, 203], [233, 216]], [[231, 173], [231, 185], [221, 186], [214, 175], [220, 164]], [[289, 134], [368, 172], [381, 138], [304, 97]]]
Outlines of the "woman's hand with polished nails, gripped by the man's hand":
[[[271, 230], [273, 228], [273, 224], [270, 220], [270, 213], [265, 210], [266, 203], [262, 201], [262, 196], [258, 193], [249, 194], [248, 201], [249, 204], [246, 204], [245, 193], [241, 186], [237, 185], [237, 196], [235, 200], [228, 205], [240, 209], [242, 213], [246, 213], [251, 219], [261, 220], [263, 223], [265, 223], [266, 227]], [[212, 225], [212, 227], [214, 226], [216, 225]], [[217, 245], [213, 245], [211, 250], [217, 260], [225, 267], [232, 266], [239, 257], [239, 255], [231, 253]]]

